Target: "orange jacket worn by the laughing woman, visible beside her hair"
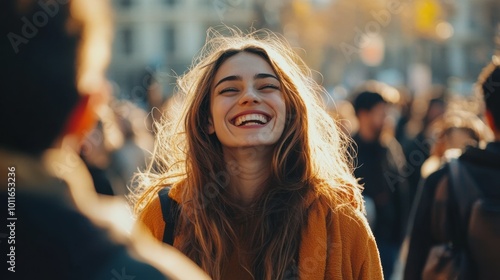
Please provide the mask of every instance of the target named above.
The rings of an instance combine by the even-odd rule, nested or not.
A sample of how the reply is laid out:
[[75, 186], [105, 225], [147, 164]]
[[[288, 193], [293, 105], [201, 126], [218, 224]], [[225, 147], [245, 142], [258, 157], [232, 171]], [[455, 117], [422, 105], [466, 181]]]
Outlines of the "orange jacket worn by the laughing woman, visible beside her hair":
[[[169, 196], [180, 202], [178, 188], [172, 188]], [[315, 193], [306, 199], [310, 210], [299, 249], [299, 278], [383, 279], [375, 239], [363, 214], [348, 206], [331, 210], [322, 201], [324, 199], [319, 199]], [[165, 222], [158, 197], [146, 206], [139, 220], [158, 240], [163, 239]], [[174, 239], [174, 247], [178, 238]], [[234, 275], [241, 269], [230, 270], [227, 274]]]

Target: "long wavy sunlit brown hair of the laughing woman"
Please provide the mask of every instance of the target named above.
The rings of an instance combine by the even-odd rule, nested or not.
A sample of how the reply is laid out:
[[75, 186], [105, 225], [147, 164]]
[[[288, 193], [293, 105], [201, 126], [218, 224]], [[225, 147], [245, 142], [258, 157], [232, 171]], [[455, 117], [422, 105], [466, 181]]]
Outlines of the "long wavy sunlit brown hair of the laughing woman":
[[[171, 108], [182, 111], [167, 111], [158, 124], [153, 161], [136, 177], [135, 211], [140, 213], [162, 187], [178, 185], [182, 194], [178, 249], [220, 279], [223, 264], [243, 242], [251, 248], [249, 272], [255, 279], [282, 279], [296, 261], [307, 222], [306, 195], [314, 190], [332, 202], [332, 208], [349, 205], [363, 211], [361, 192], [346, 152], [350, 142], [325, 111], [325, 91], [312, 79], [311, 70], [270, 31], [247, 35], [230, 31], [231, 36], [223, 36], [210, 30], [201, 54], [178, 78], [173, 102], [180, 104]], [[224, 161], [215, 134], [208, 133], [215, 73], [240, 52], [257, 54], [271, 65], [287, 112], [284, 132], [274, 146], [268, 186], [251, 211], [228, 194], [234, 166]], [[256, 222], [242, 230], [235, 218], [241, 213]]]

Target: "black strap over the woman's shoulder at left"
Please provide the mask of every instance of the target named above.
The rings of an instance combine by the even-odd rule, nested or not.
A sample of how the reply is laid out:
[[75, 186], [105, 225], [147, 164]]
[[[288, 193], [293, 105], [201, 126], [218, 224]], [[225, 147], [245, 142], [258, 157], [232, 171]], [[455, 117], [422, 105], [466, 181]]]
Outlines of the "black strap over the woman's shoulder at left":
[[165, 221], [165, 231], [163, 232], [163, 242], [169, 245], [174, 244], [174, 229], [177, 221], [179, 205], [175, 200], [168, 196], [170, 187], [161, 189], [158, 192], [160, 197], [161, 212]]

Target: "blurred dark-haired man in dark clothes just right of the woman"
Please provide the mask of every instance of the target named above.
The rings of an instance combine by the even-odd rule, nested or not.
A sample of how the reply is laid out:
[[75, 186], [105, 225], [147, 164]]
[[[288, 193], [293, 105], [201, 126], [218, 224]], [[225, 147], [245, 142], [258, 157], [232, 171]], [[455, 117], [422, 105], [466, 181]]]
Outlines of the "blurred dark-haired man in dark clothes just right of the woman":
[[375, 205], [370, 226], [380, 251], [384, 278], [389, 279], [406, 225], [408, 190], [402, 148], [394, 138], [384, 138], [382, 133], [389, 104], [376, 90], [373, 87], [355, 95], [358, 131], [353, 139], [357, 150], [351, 153], [357, 157], [354, 174], [364, 186], [363, 196]]

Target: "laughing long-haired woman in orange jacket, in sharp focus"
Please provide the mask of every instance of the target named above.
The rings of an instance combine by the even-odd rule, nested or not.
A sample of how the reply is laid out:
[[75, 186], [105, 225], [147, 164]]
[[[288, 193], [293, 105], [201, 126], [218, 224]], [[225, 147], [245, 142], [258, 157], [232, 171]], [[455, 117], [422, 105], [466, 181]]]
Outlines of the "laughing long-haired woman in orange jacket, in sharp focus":
[[[137, 176], [139, 221], [214, 279], [381, 279], [324, 89], [278, 35], [231, 31], [209, 32], [178, 79], [181, 111]], [[162, 209], [168, 186], [175, 207]]]

